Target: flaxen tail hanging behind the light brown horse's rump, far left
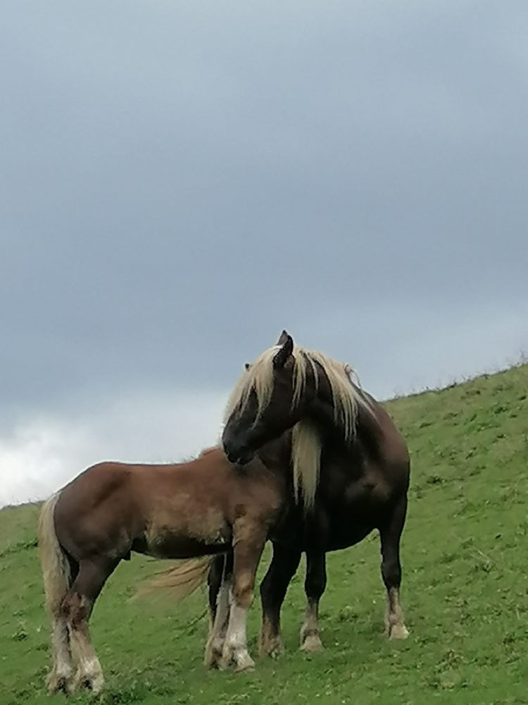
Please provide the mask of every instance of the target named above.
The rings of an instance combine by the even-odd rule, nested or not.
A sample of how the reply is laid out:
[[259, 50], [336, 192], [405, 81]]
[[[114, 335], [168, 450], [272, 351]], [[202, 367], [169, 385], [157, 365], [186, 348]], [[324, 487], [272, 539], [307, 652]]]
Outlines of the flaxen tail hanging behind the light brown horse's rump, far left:
[[52, 495], [44, 505], [39, 519], [39, 554], [42, 580], [46, 594], [46, 607], [56, 615], [61, 602], [71, 585], [71, 570], [61, 544], [55, 533], [55, 505], [60, 491]]

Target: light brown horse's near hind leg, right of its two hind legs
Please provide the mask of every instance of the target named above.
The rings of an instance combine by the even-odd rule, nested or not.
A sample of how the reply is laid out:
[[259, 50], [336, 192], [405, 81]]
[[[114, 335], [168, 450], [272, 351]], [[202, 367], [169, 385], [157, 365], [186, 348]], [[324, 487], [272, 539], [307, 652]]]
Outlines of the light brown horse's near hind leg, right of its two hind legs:
[[68, 625], [73, 657], [77, 661], [77, 673], [68, 689], [75, 691], [81, 685], [98, 693], [103, 687], [103, 671], [92, 642], [88, 622], [94, 602], [103, 585], [119, 560], [82, 560], [77, 577], [61, 606], [63, 618]]

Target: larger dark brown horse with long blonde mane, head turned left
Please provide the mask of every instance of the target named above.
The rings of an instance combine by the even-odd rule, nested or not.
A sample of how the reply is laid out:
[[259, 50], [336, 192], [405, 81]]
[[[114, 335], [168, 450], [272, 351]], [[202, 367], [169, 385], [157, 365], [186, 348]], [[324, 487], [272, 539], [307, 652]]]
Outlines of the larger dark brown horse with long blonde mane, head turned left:
[[[260, 587], [263, 654], [282, 650], [280, 609], [303, 552], [308, 604], [301, 648], [322, 648], [318, 605], [326, 586], [325, 553], [353, 546], [373, 529], [381, 539], [386, 634], [408, 636], [399, 601], [408, 450], [383, 407], [350, 373], [321, 353], [296, 347], [284, 331], [277, 345], [246, 365], [232, 393], [222, 434], [227, 457], [244, 464], [254, 455], [265, 458], [273, 446], [291, 457], [294, 471], [294, 491], [270, 534], [273, 558]], [[213, 608], [221, 562], [215, 559], [209, 577]]]

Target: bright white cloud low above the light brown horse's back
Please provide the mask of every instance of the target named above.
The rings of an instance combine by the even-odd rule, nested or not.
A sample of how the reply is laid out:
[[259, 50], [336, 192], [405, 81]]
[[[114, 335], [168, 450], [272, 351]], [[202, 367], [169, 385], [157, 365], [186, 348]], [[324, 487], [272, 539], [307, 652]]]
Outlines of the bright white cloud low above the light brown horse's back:
[[177, 462], [218, 441], [226, 393], [136, 393], [0, 437], [0, 506], [42, 499], [99, 460]]

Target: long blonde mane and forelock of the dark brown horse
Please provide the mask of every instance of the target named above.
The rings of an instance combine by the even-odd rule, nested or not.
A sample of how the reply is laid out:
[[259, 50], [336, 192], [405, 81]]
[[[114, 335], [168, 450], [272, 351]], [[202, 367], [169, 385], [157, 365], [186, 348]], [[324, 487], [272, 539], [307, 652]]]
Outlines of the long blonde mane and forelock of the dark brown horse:
[[[280, 345], [274, 345], [265, 350], [241, 375], [237, 386], [227, 402], [225, 420], [237, 410], [243, 412], [251, 391], [257, 398], [257, 416], [262, 414], [271, 400], [273, 392], [273, 358], [280, 350]], [[332, 389], [334, 399], [334, 418], [344, 429], [344, 441], [350, 442], [356, 433], [358, 406], [370, 408], [370, 403], [360, 393], [356, 373], [348, 364], [332, 360], [323, 353], [306, 350], [296, 345], [294, 357], [294, 393], [291, 406], [294, 407], [301, 398], [308, 371], [311, 368], [318, 381], [316, 364], [325, 371]], [[353, 376], [355, 379], [352, 379]], [[300, 421], [292, 429], [291, 434], [291, 468], [294, 478], [296, 501], [302, 496], [304, 509], [313, 507], [315, 492], [319, 484], [322, 441], [317, 429], [310, 422]]]

